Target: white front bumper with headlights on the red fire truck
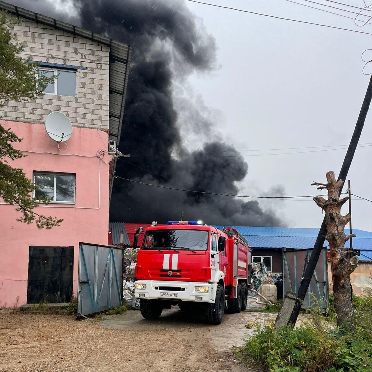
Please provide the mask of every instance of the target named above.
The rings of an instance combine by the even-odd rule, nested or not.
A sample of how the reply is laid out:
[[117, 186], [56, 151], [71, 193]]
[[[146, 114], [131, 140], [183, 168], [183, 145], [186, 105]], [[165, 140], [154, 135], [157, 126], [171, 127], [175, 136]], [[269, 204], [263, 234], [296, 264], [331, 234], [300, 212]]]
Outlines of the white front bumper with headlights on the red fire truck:
[[172, 301], [215, 302], [217, 291], [217, 283], [161, 280], [138, 280], [135, 282], [135, 287], [136, 298]]

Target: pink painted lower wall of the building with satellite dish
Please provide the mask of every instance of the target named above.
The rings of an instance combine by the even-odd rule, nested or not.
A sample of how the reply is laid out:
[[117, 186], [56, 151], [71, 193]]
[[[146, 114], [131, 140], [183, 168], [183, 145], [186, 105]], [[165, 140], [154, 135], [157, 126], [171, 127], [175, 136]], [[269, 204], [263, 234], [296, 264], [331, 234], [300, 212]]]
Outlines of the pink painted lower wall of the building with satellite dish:
[[105, 163], [109, 163], [111, 156], [106, 154], [104, 163], [96, 153], [107, 149], [108, 134], [98, 129], [74, 127], [72, 137], [61, 143], [59, 150], [42, 124], [0, 123], [23, 138], [15, 147], [30, 151], [25, 152], [27, 157], [9, 163], [23, 168], [30, 179], [33, 171], [76, 173], [74, 205], [49, 204], [35, 209], [39, 214], [63, 218], [60, 227], [38, 230], [35, 224], [16, 221], [20, 214], [15, 206], [0, 203], [0, 307], [26, 304], [29, 246], [74, 246], [73, 292], [76, 295], [78, 243], [107, 245], [109, 170]]

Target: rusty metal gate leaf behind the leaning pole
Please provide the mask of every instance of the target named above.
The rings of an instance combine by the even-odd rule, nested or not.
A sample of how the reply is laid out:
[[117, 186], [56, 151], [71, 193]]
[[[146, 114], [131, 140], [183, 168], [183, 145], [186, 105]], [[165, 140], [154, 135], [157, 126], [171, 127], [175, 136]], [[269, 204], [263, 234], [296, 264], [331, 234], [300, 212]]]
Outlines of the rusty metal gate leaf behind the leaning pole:
[[[283, 295], [287, 291], [298, 291], [305, 269], [308, 265], [312, 249], [282, 248], [283, 253]], [[321, 310], [328, 308], [328, 267], [327, 248], [323, 247], [310, 286], [306, 292], [302, 308], [309, 309], [312, 305], [312, 295], [317, 298]], [[314, 301], [313, 301], [314, 302]]]

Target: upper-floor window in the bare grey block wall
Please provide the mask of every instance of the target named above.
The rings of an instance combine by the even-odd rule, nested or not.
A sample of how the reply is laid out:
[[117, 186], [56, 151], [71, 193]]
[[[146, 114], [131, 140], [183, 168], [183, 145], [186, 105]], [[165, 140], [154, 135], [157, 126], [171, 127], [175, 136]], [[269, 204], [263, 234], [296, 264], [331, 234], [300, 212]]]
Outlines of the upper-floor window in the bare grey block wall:
[[58, 94], [59, 96], [76, 96], [76, 72], [39, 68], [39, 76], [44, 75], [47, 77], [56, 76], [52, 83], [44, 89], [44, 93]]

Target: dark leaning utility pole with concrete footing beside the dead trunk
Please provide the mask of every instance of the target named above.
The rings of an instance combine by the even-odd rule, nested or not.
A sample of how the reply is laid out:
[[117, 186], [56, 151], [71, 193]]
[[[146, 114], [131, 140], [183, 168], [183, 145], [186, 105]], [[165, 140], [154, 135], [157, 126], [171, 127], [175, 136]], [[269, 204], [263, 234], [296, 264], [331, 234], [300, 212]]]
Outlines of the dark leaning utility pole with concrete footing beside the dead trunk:
[[[362, 134], [364, 122], [368, 113], [369, 105], [372, 99], [372, 75], [369, 79], [368, 88], [360, 108], [358, 120], [355, 125], [355, 129], [350, 140], [349, 148], [347, 149], [344, 161], [341, 166], [340, 174], [337, 180], [346, 180], [347, 173], [349, 171], [351, 162], [353, 160], [355, 150]], [[342, 187], [340, 187], [339, 196], [341, 195]], [[298, 318], [298, 314], [301, 310], [302, 302], [304, 301], [307, 290], [311, 282], [311, 278], [314, 274], [315, 267], [324, 245], [324, 237], [327, 234], [327, 225], [325, 223], [325, 217], [321, 224], [317, 240], [315, 241], [314, 248], [312, 250], [308, 265], [305, 269], [304, 276], [301, 279], [301, 283], [298, 289], [298, 293], [287, 292], [284, 296], [282, 308], [279, 311], [278, 316], [275, 320], [275, 327], [280, 328], [287, 324], [295, 324]]]

